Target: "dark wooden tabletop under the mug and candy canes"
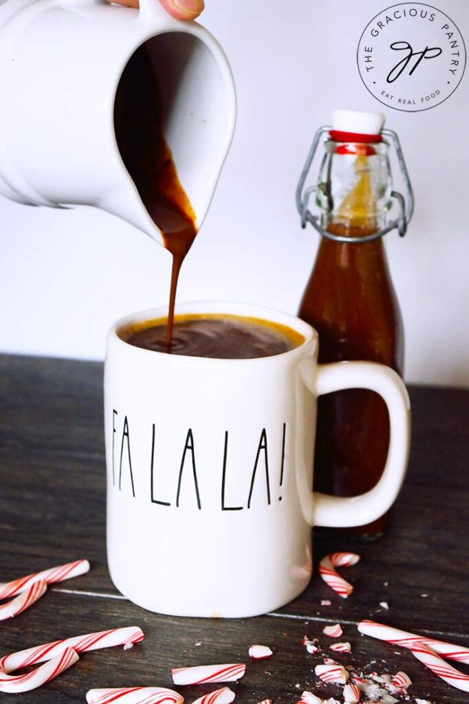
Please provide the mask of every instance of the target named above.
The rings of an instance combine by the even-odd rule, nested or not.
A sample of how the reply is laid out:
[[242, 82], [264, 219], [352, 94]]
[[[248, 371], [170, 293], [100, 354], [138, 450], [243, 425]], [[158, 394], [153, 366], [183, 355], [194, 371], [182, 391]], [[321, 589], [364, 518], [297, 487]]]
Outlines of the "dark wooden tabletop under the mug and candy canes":
[[[436, 704], [468, 702], [468, 693], [427, 672], [408, 650], [356, 630], [359, 620], [372, 618], [469, 646], [468, 391], [411, 387], [411, 463], [383, 539], [358, 543], [344, 534], [315, 536], [317, 559], [335, 550], [361, 554], [361, 562], [343, 572], [355, 586], [351, 598], [335, 596], [315, 574], [308, 589], [279, 612], [205, 620], [146, 612], [111, 583], [102, 375], [99, 363], [0, 356], [0, 581], [77, 558], [92, 564], [89, 574], [49, 589], [30, 610], [1, 622], [0, 653], [133, 624], [146, 639], [126, 652], [109, 648], [82, 655], [41, 689], [0, 693], [0, 704], [85, 702], [87, 690], [99, 686], [171, 686], [171, 667], [247, 662], [252, 643], [271, 646], [274, 656], [248, 662], [244, 679], [233, 687], [237, 701], [294, 704], [302, 689], [318, 691], [313, 667], [322, 660], [306, 653], [304, 634], [318, 637], [327, 650], [322, 629], [336, 622], [353, 648], [347, 655], [330, 653], [336, 660], [365, 672], [381, 665], [391, 673], [404, 670], [414, 683], [412, 701], [416, 696]], [[190, 589], [191, 575], [185, 579]], [[332, 604], [321, 606], [328, 598]], [[383, 601], [389, 610], [380, 606]], [[184, 689], [190, 703], [208, 688]], [[334, 686], [329, 691], [339, 692]]]

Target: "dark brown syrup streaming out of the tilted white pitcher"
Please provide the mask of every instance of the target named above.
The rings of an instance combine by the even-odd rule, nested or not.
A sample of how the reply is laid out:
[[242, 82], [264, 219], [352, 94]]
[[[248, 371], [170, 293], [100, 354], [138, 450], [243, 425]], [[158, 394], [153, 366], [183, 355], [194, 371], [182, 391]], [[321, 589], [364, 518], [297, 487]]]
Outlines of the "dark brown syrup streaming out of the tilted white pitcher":
[[139, 46], [120, 78], [114, 103], [114, 129], [125, 168], [151, 219], [173, 255], [166, 344], [173, 335], [177, 279], [197, 234], [195, 213], [177, 177], [162, 133], [158, 78], [151, 61], [152, 39]]

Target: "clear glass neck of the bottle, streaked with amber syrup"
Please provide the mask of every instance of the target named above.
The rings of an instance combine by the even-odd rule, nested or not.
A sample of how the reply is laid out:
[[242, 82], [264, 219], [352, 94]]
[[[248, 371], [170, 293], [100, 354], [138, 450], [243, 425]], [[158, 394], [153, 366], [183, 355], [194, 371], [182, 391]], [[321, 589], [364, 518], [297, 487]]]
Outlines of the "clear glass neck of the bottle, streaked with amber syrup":
[[385, 142], [325, 142], [317, 203], [321, 226], [345, 237], [379, 232], [391, 199], [391, 172]]

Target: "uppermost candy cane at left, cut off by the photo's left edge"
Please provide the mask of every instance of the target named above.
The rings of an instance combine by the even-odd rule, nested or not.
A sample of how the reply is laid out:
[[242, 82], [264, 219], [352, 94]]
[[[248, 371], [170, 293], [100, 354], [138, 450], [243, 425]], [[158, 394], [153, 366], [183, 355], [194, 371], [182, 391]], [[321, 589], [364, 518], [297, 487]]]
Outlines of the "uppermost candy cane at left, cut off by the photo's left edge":
[[48, 584], [63, 582], [65, 579], [79, 577], [89, 570], [88, 560], [75, 560], [66, 565], [51, 567], [42, 572], [33, 572], [26, 577], [18, 577], [12, 582], [0, 584], [0, 601], [15, 597], [12, 601], [0, 606], [0, 621], [18, 616], [46, 592]]

